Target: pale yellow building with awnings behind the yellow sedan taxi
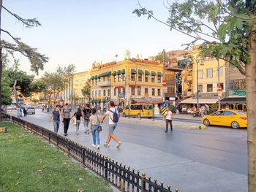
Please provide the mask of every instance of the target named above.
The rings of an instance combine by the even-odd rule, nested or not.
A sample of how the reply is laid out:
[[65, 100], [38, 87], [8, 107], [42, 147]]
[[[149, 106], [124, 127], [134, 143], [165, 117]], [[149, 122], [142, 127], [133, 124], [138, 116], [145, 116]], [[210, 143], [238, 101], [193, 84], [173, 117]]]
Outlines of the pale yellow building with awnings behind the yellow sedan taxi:
[[[226, 62], [221, 59], [217, 61], [213, 57], [200, 58], [199, 53], [197, 46], [187, 52], [187, 56], [192, 55], [193, 58], [190, 59], [192, 64], [189, 64], [181, 74], [182, 96], [190, 98], [181, 101], [181, 104], [197, 104], [197, 91], [199, 104], [217, 104], [219, 99], [225, 97]], [[218, 82], [222, 88], [220, 95]]]

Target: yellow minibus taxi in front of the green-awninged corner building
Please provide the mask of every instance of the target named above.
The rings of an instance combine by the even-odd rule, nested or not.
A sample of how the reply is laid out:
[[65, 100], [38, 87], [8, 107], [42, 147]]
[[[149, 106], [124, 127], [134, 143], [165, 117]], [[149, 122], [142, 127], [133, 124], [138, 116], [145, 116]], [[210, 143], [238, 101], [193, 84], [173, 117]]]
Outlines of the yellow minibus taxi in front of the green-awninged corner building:
[[153, 117], [152, 104], [128, 104], [123, 110], [123, 117], [151, 118]]

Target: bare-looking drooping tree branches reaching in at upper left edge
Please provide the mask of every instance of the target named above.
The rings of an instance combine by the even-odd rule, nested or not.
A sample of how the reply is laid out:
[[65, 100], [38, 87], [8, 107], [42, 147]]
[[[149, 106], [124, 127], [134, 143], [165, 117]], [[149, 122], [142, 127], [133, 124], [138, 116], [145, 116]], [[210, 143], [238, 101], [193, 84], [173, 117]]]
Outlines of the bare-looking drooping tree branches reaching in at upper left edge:
[[[26, 58], [29, 58], [30, 64], [31, 64], [31, 71], [36, 72], [38, 74], [39, 69], [42, 70], [44, 64], [48, 61], [48, 58], [45, 55], [42, 55], [37, 51], [36, 48], [29, 47], [29, 45], [26, 45], [24, 42], [20, 40], [18, 37], [13, 37], [12, 34], [5, 30], [4, 28], [1, 28], [1, 11], [4, 9], [7, 11], [10, 15], [12, 15], [15, 19], [20, 21], [23, 26], [26, 28], [31, 28], [34, 26], [41, 26], [39, 21], [36, 18], [33, 19], [24, 19], [21, 18], [19, 15], [16, 15], [15, 13], [11, 12], [9, 9], [3, 6], [3, 1], [0, 0], [0, 109], [2, 104], [2, 69], [3, 69], [3, 55], [2, 50], [3, 48], [8, 50], [10, 53], [18, 52], [24, 55]], [[1, 39], [1, 33], [7, 34], [11, 37], [11, 39], [14, 41], [14, 43], [7, 42], [4, 39]]]

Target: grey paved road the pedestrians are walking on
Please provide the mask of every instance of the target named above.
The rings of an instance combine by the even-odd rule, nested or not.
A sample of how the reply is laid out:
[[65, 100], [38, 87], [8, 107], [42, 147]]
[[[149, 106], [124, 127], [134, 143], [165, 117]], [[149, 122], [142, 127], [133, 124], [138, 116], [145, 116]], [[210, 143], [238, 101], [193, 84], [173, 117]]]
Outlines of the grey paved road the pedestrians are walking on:
[[[37, 111], [24, 119], [53, 130], [48, 116]], [[108, 134], [107, 126], [105, 122], [100, 135], [102, 144]], [[247, 191], [245, 129], [175, 129], [167, 134], [164, 131], [162, 127], [133, 124], [132, 120], [118, 123], [116, 136], [123, 144], [117, 149], [112, 142], [109, 148], [102, 146], [99, 153], [180, 191]], [[80, 132], [75, 135], [75, 127], [70, 126], [68, 137], [91, 147], [91, 135]], [[63, 126], [59, 134], [63, 135]]]

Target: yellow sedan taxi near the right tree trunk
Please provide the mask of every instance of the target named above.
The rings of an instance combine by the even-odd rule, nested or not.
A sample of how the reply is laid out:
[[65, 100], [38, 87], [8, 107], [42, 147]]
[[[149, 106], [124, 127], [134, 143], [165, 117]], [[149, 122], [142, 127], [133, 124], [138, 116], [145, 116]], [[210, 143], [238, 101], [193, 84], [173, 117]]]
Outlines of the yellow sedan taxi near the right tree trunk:
[[232, 128], [247, 127], [245, 112], [238, 110], [220, 110], [211, 115], [206, 115], [201, 122], [205, 126], [230, 126]]

